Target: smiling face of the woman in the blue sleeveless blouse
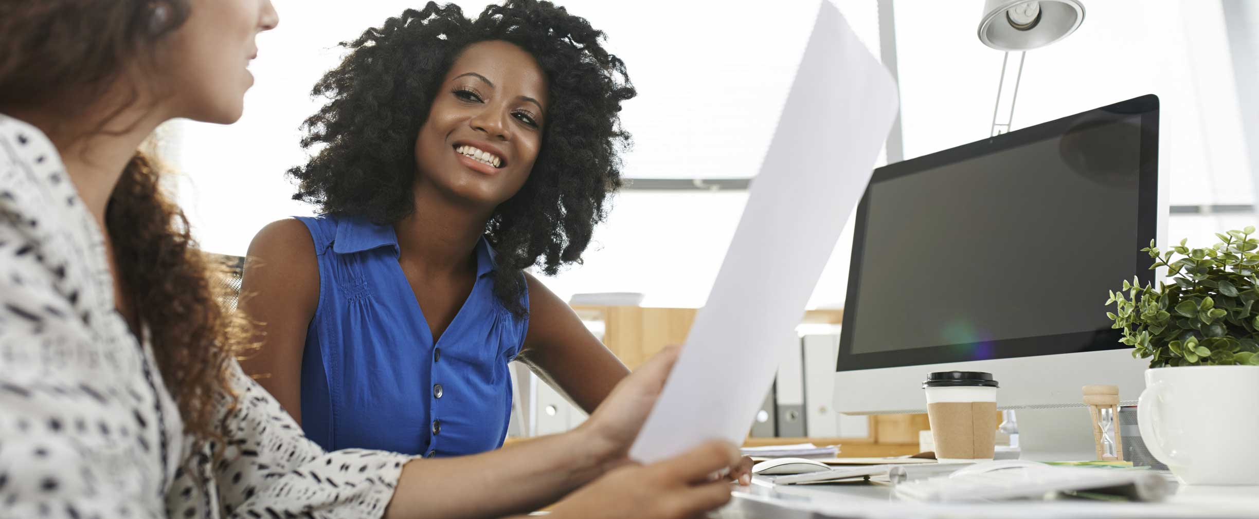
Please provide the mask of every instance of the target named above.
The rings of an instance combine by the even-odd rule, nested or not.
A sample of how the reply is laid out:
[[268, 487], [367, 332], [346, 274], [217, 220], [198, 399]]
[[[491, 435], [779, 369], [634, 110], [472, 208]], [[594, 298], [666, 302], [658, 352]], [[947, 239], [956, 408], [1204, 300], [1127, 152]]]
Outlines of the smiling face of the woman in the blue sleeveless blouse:
[[541, 148], [546, 75], [506, 41], [468, 45], [442, 79], [415, 139], [417, 188], [492, 209], [529, 178]]

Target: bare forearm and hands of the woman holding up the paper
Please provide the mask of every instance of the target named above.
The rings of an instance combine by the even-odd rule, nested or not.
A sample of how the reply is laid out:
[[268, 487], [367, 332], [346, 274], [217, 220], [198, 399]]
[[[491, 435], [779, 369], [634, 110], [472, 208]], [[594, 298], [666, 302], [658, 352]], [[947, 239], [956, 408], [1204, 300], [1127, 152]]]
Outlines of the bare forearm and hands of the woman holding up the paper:
[[[737, 462], [738, 450], [730, 445], [705, 445], [675, 462], [647, 466], [636, 466], [626, 459], [677, 353], [679, 348], [671, 347], [648, 359], [617, 385], [590, 420], [573, 431], [472, 456], [408, 462], [385, 518], [497, 518], [528, 513], [612, 469], [616, 470], [607, 478], [556, 505], [555, 516], [684, 518], [725, 503], [730, 494], [728, 484], [708, 484], [708, 475]], [[662, 503], [663, 506], [656, 506]], [[592, 514], [601, 505], [608, 509]]]

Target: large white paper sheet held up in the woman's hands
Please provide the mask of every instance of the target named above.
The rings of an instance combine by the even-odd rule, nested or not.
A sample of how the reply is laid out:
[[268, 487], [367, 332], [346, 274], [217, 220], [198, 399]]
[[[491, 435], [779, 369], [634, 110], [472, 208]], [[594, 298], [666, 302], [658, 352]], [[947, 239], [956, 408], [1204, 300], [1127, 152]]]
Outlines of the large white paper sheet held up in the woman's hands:
[[799, 323], [895, 114], [890, 74], [822, 1], [713, 292], [633, 459], [661, 460], [713, 439], [743, 442], [778, 368], [778, 344]]

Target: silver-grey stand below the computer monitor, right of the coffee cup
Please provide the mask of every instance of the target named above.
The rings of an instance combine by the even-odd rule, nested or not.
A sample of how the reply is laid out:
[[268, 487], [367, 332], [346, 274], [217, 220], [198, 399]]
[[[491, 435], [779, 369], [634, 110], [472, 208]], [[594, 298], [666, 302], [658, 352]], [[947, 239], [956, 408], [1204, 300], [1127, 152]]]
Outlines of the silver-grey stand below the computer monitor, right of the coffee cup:
[[1097, 459], [1093, 423], [1084, 406], [1059, 408], [1021, 408], [1019, 459], [1031, 461], [1087, 461]]

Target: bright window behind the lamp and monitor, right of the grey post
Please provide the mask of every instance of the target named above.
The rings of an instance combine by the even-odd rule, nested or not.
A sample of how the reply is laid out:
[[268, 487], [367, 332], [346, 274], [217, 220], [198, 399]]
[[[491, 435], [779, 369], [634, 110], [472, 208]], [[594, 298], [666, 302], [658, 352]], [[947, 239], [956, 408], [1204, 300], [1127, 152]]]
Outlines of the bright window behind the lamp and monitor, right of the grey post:
[[[964, 5], [959, 5], [964, 4]], [[973, 4], [973, 5], [972, 5]], [[1013, 128], [1153, 93], [1160, 175], [1171, 205], [1251, 204], [1250, 167], [1217, 1], [1084, 1], [1079, 30], [1029, 52]], [[896, 1], [905, 157], [988, 136], [1002, 53], [976, 36], [982, 3]], [[1255, 117], [1255, 114], [1251, 114]], [[1168, 238], [1200, 246], [1253, 214], [1175, 216]]]

